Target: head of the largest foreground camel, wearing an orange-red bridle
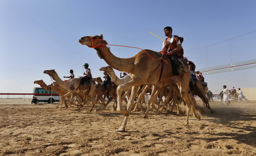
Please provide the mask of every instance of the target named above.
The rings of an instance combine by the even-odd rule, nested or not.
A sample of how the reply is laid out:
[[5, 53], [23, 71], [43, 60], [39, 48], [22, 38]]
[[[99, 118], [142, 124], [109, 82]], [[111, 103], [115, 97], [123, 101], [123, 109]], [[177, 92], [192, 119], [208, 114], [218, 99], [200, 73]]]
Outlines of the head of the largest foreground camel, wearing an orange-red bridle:
[[102, 42], [102, 40], [103, 40], [103, 35], [100, 35], [100, 36], [96, 35], [92, 37], [84, 36], [79, 39], [79, 43], [82, 45], [93, 47], [93, 46], [96, 46], [97, 44], [105, 44], [104, 42]]

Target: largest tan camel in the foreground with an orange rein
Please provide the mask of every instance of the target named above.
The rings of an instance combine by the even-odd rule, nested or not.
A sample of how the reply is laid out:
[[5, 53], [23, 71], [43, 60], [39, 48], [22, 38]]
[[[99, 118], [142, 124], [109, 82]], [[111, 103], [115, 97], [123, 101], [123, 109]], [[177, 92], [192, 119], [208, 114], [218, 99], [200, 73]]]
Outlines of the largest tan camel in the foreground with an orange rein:
[[[118, 128], [120, 132], [125, 131], [131, 108], [133, 107], [134, 99], [140, 85], [153, 85], [174, 77], [170, 59], [166, 56], [160, 58], [159, 55], [152, 50], [144, 49], [131, 58], [117, 58], [106, 46], [108, 43], [103, 40], [103, 35], [92, 37], [85, 36], [79, 39], [79, 43], [96, 49], [99, 58], [104, 59], [105, 62], [114, 69], [130, 73], [132, 80], [117, 87], [117, 111], [125, 115], [122, 125]], [[200, 120], [200, 117], [197, 116], [195, 112], [195, 103], [192, 102], [193, 97], [189, 93], [190, 72], [181, 73], [177, 79], [180, 94], [186, 102], [187, 116], [185, 125], [188, 125], [191, 106], [195, 118]], [[132, 90], [127, 108], [121, 108], [122, 92], [129, 88], [132, 88]]]

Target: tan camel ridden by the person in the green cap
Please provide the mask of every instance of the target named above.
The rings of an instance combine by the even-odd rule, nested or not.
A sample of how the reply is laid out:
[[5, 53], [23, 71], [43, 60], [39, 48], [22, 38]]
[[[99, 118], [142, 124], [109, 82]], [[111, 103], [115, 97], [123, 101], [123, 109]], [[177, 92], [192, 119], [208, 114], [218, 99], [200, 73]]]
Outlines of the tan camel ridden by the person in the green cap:
[[[81, 101], [82, 97], [84, 97], [84, 104], [86, 104], [87, 96], [89, 96], [89, 98], [91, 99], [91, 101], [93, 103], [90, 112], [93, 110], [93, 107], [95, 106], [95, 100], [93, 98], [93, 94], [94, 94], [96, 88], [92, 81], [90, 81], [90, 84], [84, 83], [82, 85], [80, 82], [80, 80], [81, 80], [80, 78], [72, 78], [70, 81], [67, 81], [67, 82], [62, 81], [54, 69], [53, 70], [45, 70], [44, 73], [51, 76], [52, 79], [55, 80], [60, 87], [63, 87], [64, 89], [69, 91], [67, 94], [62, 96], [63, 101], [66, 101], [65, 100], [66, 97], [71, 95], [71, 98], [70, 98], [71, 104], [74, 104], [73, 103], [74, 96], [77, 96], [80, 101]], [[89, 91], [89, 93], [88, 93], [88, 91]], [[78, 110], [84, 104], [81, 104], [80, 107], [78, 108]], [[65, 102], [65, 105], [67, 108], [66, 102]], [[74, 104], [74, 105], [76, 105], [76, 104]]]

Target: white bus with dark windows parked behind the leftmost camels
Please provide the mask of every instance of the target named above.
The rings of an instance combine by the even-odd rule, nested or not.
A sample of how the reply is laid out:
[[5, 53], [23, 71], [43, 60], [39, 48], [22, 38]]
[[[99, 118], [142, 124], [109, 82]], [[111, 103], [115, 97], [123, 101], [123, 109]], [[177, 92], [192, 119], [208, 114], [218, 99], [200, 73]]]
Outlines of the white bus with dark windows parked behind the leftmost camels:
[[[56, 94], [56, 92], [49, 92], [41, 87], [35, 87], [33, 90], [33, 93], [35, 94]], [[48, 102], [49, 104], [60, 101], [60, 95], [34, 95], [38, 102]]]

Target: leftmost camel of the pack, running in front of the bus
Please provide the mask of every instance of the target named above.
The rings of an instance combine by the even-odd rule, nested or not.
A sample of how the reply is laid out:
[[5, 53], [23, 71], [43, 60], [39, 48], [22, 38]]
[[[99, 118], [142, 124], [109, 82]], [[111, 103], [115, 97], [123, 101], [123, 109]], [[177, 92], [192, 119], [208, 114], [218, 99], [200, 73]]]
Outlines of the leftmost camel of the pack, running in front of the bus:
[[[65, 90], [62, 87], [58, 87], [58, 85], [51, 84], [51, 86], [50, 86], [50, 85], [45, 84], [43, 80], [34, 81], [34, 84], [39, 84], [42, 88], [44, 88], [45, 90], [48, 90], [49, 92], [57, 92], [60, 95], [60, 97], [62, 97], [63, 95], [68, 93], [67, 90]], [[69, 98], [70, 97], [68, 97], [68, 99]], [[62, 103], [63, 103], [63, 101], [61, 98], [56, 107], [58, 107], [59, 104], [61, 104], [61, 107], [62, 107]], [[60, 107], [60, 109], [61, 109], [61, 107]]]

